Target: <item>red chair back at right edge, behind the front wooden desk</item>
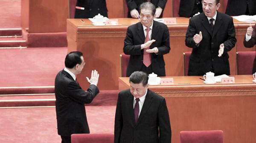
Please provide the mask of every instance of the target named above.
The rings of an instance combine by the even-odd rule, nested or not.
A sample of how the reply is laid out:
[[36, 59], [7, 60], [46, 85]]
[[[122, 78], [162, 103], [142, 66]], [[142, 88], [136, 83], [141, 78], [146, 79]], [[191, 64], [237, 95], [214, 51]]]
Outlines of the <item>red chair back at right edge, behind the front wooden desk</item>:
[[238, 75], [252, 74], [255, 54], [255, 51], [236, 52], [236, 67]]

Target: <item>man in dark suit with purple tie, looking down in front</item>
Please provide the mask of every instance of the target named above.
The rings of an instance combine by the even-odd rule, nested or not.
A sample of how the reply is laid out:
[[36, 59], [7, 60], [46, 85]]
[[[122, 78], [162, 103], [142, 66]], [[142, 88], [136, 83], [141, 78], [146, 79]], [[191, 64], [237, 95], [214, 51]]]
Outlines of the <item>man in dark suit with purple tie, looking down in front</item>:
[[119, 93], [114, 143], [171, 143], [171, 125], [165, 98], [148, 90], [148, 75], [131, 74], [130, 89]]

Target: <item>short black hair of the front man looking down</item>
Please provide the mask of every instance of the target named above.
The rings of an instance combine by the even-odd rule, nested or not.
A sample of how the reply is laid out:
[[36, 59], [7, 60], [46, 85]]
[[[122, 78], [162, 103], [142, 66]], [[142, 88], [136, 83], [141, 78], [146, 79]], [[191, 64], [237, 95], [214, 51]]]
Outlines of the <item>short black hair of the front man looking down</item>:
[[148, 74], [143, 71], [135, 71], [131, 74], [129, 82], [134, 84], [142, 83], [145, 87], [148, 84]]

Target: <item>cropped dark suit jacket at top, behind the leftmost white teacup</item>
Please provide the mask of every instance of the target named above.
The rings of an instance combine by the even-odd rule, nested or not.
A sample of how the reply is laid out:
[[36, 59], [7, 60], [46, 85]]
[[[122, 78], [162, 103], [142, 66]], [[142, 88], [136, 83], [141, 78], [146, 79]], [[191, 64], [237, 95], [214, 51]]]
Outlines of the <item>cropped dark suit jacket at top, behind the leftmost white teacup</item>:
[[77, 0], [76, 6], [84, 10], [76, 9], [75, 18], [93, 18], [98, 14], [108, 17], [106, 0]]

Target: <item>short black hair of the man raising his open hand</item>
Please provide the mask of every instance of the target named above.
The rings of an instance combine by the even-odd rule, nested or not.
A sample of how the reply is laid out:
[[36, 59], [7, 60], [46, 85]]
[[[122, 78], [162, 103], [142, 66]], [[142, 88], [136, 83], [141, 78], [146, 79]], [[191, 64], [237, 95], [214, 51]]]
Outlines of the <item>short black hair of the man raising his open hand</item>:
[[81, 56], [83, 56], [83, 53], [79, 51], [73, 51], [68, 53], [65, 58], [65, 67], [73, 68], [76, 66], [76, 64], [81, 64]]

